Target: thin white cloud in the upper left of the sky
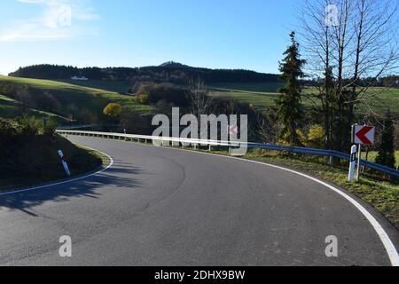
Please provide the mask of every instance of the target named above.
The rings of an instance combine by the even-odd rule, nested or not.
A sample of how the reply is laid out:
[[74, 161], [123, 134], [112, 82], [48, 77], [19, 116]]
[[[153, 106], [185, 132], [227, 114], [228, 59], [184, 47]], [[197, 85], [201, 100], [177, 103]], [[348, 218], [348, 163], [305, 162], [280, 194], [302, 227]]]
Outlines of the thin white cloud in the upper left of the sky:
[[89, 1], [82, 0], [17, 0], [43, 7], [41, 15], [24, 20], [19, 26], [0, 32], [0, 42], [62, 39], [95, 35], [85, 22], [98, 19]]

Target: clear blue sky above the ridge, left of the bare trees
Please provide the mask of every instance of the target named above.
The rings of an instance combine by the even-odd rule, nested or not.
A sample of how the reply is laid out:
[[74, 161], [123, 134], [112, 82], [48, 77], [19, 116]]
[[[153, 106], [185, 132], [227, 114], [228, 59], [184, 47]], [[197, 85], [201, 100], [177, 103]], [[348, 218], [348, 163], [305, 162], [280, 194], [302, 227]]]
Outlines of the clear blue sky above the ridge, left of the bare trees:
[[0, 74], [51, 63], [277, 73], [294, 0], [2, 0]]

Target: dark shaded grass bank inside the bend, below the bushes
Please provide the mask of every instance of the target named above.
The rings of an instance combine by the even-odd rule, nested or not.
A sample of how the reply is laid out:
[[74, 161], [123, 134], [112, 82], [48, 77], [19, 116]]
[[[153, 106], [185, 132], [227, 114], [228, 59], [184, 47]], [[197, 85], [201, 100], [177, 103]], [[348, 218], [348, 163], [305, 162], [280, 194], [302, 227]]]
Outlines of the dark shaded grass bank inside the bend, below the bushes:
[[35, 137], [16, 146], [0, 164], [0, 192], [33, 187], [67, 180], [58, 150], [61, 149], [72, 177], [82, 177], [109, 164], [109, 159], [97, 151], [75, 146], [66, 138]]

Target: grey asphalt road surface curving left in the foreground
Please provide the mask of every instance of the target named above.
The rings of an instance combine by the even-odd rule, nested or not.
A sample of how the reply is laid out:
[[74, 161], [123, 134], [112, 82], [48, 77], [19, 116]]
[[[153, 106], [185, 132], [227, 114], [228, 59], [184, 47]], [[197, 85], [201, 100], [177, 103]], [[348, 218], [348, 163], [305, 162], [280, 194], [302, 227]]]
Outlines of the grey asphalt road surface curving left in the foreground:
[[[358, 209], [285, 170], [215, 155], [70, 137], [109, 170], [0, 195], [1, 265], [389, 265]], [[364, 203], [362, 203], [364, 205]], [[392, 225], [364, 205], [399, 243]], [[69, 235], [73, 257], [58, 254]], [[325, 256], [335, 235], [339, 256]]]

